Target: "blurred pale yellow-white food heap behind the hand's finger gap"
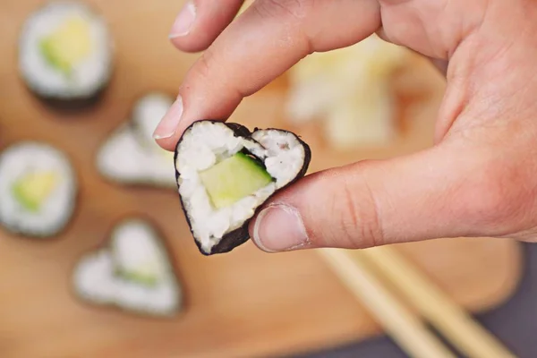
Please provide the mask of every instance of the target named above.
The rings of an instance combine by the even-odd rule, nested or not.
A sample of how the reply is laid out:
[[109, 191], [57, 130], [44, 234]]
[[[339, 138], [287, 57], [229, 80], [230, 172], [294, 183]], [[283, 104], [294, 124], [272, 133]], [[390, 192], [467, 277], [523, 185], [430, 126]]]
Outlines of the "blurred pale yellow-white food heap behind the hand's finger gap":
[[382, 145], [396, 135], [396, 102], [389, 81], [409, 58], [372, 35], [334, 51], [315, 53], [289, 70], [286, 113], [295, 123], [322, 119], [337, 149]]

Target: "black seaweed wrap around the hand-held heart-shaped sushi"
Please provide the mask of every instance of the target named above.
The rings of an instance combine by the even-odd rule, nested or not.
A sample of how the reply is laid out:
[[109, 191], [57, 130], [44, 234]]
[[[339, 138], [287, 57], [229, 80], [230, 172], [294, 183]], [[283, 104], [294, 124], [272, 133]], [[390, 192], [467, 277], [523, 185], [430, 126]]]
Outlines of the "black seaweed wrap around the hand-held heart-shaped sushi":
[[[251, 138], [251, 135], [253, 134], [253, 132], [257, 132], [257, 131], [278, 131], [278, 132], [287, 132], [287, 133], [291, 133], [294, 135], [294, 137], [296, 138], [297, 141], [299, 141], [299, 143], [303, 146], [303, 149], [304, 149], [304, 160], [303, 160], [303, 167], [301, 168], [301, 170], [298, 172], [297, 175], [294, 176], [294, 179], [287, 183], [286, 185], [284, 185], [283, 187], [277, 189], [277, 191], [273, 192], [266, 200], [263, 201], [263, 203], [260, 204], [260, 206], [254, 211], [252, 217], [250, 217], [249, 219], [247, 219], [246, 221], [244, 221], [243, 223], [243, 226], [241, 227], [238, 227], [236, 229], [234, 229], [234, 231], [231, 231], [227, 234], [225, 234], [222, 239], [220, 240], [219, 243], [217, 243], [215, 246], [212, 247], [212, 250], [210, 252], [207, 252], [207, 251], [204, 251], [202, 248], [201, 248], [201, 244], [198, 242], [198, 240], [196, 240], [196, 237], [194, 235], [194, 232], [192, 230], [192, 225], [191, 225], [191, 221], [190, 221], [190, 217], [188, 216], [188, 212], [187, 210], [184, 208], [184, 202], [183, 202], [183, 198], [181, 196], [181, 194], [179, 194], [179, 200], [181, 201], [181, 208], [183, 209], [183, 214], [184, 214], [184, 217], [186, 218], [186, 222], [189, 226], [189, 229], [192, 233], [192, 237], [194, 239], [194, 243], [196, 243], [196, 246], [198, 246], [198, 249], [200, 250], [200, 252], [205, 255], [205, 256], [210, 256], [210, 255], [214, 255], [214, 254], [217, 254], [217, 253], [226, 253], [226, 252], [229, 252], [229, 251], [232, 251], [234, 250], [236, 247], [242, 245], [243, 243], [246, 243], [249, 239], [250, 239], [250, 233], [248, 232], [248, 226], [250, 225], [250, 222], [251, 222], [251, 219], [253, 217], [255, 217], [257, 214], [259, 214], [260, 210], [264, 208], [264, 203], [267, 202], [270, 198], [272, 198], [275, 194], [277, 194], [277, 192], [280, 192], [284, 189], [286, 189], [289, 185], [295, 183], [296, 181], [298, 181], [299, 179], [303, 178], [304, 175], [306, 175], [306, 172], [308, 171], [308, 167], [310, 166], [310, 162], [311, 162], [311, 148], [310, 146], [308, 145], [308, 143], [306, 143], [305, 141], [303, 141], [300, 136], [296, 135], [294, 132], [290, 132], [290, 131], [286, 131], [286, 130], [283, 130], [283, 129], [277, 129], [277, 128], [266, 128], [266, 129], [260, 129], [258, 127], [255, 127], [253, 132], [250, 132], [250, 130], [243, 126], [243, 124], [236, 124], [236, 123], [224, 123], [222, 121], [217, 121], [217, 120], [210, 120], [210, 119], [206, 119], [206, 120], [200, 120], [200, 121], [195, 121], [194, 123], [192, 123], [191, 125], [189, 125], [183, 132], [183, 135], [184, 133], [186, 132], [189, 132], [193, 125], [198, 123], [198, 122], [209, 122], [209, 123], [212, 123], [212, 124], [225, 124], [229, 129], [231, 129], [233, 132], [234, 132], [234, 136], [235, 137], [245, 137], [247, 139], [251, 139], [252, 141], [254, 141], [252, 138]], [[175, 145], [175, 154], [174, 154], [174, 166], [175, 166], [175, 182], [177, 183], [177, 190], [179, 190], [179, 172], [177, 171], [177, 166], [176, 166], [176, 161], [177, 161], [177, 153], [178, 153], [178, 149], [181, 145], [183, 141], [183, 136], [181, 136], [181, 138], [179, 139], [179, 141], [177, 141], [177, 144]], [[257, 156], [253, 155], [253, 153], [250, 153], [248, 152], [249, 154], [251, 154], [253, 157], [257, 158]], [[259, 158], [258, 158], [259, 159]], [[261, 159], [260, 159], [261, 160]], [[261, 160], [262, 161], [262, 160]]]

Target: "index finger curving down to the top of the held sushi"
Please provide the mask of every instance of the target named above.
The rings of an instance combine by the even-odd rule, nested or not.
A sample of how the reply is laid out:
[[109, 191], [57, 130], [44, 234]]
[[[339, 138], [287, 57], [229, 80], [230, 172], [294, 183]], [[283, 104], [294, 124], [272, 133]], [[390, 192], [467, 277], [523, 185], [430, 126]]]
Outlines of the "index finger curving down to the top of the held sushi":
[[155, 139], [162, 148], [175, 149], [194, 121], [226, 120], [244, 97], [304, 56], [350, 46], [379, 25], [376, 0], [257, 0], [186, 74]]

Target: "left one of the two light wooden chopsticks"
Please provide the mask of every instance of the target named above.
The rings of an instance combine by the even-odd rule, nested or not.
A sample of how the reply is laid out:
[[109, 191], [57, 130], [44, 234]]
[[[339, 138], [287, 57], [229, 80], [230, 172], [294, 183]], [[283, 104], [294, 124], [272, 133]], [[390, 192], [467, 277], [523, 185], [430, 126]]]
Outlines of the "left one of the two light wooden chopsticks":
[[407, 354], [414, 358], [456, 357], [379, 283], [362, 260], [354, 260], [341, 249], [320, 249], [320, 254]]

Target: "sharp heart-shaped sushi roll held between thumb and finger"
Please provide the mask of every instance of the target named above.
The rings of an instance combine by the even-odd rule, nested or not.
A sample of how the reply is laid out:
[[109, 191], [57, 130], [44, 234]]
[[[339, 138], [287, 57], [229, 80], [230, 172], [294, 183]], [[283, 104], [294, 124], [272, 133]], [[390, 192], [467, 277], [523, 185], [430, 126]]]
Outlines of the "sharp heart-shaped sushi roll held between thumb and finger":
[[293, 132], [198, 121], [175, 148], [175, 177], [184, 214], [201, 253], [233, 250], [265, 201], [303, 177], [310, 147]]

